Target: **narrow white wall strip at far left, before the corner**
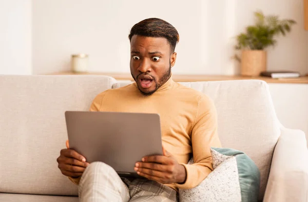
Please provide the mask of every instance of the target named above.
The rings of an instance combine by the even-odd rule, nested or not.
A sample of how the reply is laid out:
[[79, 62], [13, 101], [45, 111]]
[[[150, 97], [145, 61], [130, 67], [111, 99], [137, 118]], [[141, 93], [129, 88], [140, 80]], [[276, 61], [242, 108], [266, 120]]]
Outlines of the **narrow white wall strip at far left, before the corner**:
[[32, 73], [31, 0], [0, 0], [0, 74]]

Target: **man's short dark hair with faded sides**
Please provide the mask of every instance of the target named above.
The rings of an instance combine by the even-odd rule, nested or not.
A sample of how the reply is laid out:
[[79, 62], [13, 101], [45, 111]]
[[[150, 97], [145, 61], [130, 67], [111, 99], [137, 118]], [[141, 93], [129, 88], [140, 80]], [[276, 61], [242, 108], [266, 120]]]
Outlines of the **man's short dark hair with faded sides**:
[[134, 25], [128, 35], [129, 42], [131, 42], [131, 37], [133, 35], [166, 38], [170, 45], [171, 53], [175, 52], [176, 45], [180, 40], [177, 29], [159, 18], [144, 19]]

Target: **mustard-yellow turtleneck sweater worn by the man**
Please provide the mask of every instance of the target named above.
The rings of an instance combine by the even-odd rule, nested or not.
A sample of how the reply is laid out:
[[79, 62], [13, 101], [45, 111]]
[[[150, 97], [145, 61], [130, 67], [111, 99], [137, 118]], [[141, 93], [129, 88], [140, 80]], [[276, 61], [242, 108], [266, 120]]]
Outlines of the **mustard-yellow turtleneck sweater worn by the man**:
[[[221, 147], [216, 108], [206, 95], [172, 78], [150, 96], [142, 95], [136, 83], [106, 90], [94, 98], [90, 111], [158, 113], [163, 146], [187, 173], [184, 184], [167, 185], [175, 190], [198, 186], [213, 170], [210, 147]], [[187, 165], [192, 153], [195, 163]]]

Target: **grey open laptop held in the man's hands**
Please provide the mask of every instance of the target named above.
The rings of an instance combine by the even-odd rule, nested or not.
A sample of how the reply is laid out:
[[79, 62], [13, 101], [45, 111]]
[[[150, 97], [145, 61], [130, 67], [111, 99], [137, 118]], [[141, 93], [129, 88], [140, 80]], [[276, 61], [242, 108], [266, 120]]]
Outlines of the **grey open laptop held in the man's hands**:
[[159, 114], [66, 111], [65, 119], [70, 149], [120, 177], [143, 178], [133, 169], [136, 162], [163, 154]]

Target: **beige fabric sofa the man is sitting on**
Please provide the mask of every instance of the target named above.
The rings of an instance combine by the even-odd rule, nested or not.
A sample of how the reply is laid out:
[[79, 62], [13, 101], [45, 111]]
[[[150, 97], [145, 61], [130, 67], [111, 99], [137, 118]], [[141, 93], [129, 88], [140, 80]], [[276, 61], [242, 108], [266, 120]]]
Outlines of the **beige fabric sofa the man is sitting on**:
[[[260, 200], [308, 201], [305, 135], [279, 123], [266, 83], [183, 84], [214, 100], [223, 147], [259, 167]], [[88, 110], [95, 95], [123, 85], [107, 76], [0, 76], [0, 201], [78, 201], [56, 163], [67, 139], [64, 112]]]

